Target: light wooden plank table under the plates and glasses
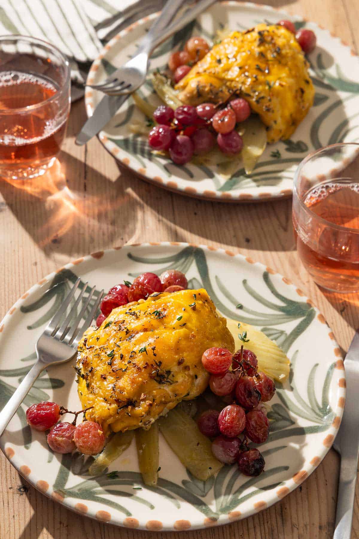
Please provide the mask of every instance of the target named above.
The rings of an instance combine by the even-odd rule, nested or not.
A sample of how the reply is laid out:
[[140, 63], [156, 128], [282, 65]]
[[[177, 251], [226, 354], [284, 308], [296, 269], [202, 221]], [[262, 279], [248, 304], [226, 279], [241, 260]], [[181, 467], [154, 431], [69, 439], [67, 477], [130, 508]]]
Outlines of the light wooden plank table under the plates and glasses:
[[[357, 0], [270, 0], [277, 8], [325, 26], [359, 50]], [[80, 256], [143, 241], [189, 241], [250, 255], [276, 268], [306, 291], [325, 315], [343, 351], [359, 326], [359, 300], [323, 294], [299, 263], [291, 200], [223, 204], [171, 194], [145, 183], [115, 160], [97, 139], [74, 144], [86, 119], [74, 103], [67, 139], [51, 174], [25, 185], [0, 179], [0, 319], [41, 277]], [[69, 202], [69, 197], [71, 202]], [[29, 485], [0, 455], [0, 537], [43, 539], [278, 539], [332, 537], [339, 458], [333, 450], [316, 471], [275, 506], [228, 526], [179, 533], [150, 533], [81, 517]], [[359, 496], [353, 537], [359, 537]]]

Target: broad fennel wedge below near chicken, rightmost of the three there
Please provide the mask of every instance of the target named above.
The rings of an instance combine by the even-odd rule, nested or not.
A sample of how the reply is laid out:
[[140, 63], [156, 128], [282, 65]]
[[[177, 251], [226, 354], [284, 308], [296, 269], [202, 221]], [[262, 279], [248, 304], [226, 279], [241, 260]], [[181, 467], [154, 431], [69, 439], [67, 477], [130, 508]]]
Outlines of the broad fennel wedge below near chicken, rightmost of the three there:
[[157, 421], [167, 444], [197, 479], [206, 481], [222, 468], [212, 453], [210, 439], [184, 411], [175, 408]]

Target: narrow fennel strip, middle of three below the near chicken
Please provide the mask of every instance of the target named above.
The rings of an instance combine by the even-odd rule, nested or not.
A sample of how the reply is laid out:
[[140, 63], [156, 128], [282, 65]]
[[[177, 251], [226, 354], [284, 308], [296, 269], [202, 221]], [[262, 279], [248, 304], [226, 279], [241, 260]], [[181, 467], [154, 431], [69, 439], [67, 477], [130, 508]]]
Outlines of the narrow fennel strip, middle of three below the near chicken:
[[136, 429], [136, 447], [139, 471], [145, 485], [157, 485], [159, 467], [159, 435], [157, 421], [152, 423], [150, 429]]

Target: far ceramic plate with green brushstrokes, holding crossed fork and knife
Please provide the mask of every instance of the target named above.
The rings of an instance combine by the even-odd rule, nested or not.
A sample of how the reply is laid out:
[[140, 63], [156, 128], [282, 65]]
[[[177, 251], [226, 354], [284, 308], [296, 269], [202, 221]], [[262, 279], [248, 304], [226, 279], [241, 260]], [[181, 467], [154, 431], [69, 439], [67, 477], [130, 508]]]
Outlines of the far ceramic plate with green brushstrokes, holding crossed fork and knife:
[[[124, 64], [136, 52], [139, 40], [157, 16], [139, 20], [112, 39], [91, 67], [89, 84], [103, 81]], [[225, 179], [213, 167], [194, 164], [179, 167], [169, 158], [153, 155], [146, 136], [132, 135], [129, 130], [131, 123], [145, 122], [145, 116], [132, 98], [99, 134], [105, 148], [147, 180], [182, 194], [229, 202], [291, 195], [294, 170], [310, 151], [335, 142], [359, 140], [359, 60], [348, 46], [317, 25], [268, 6], [222, 2], [214, 4], [158, 47], [152, 56], [151, 70], [166, 68], [171, 51], [182, 49], [192, 34], [200, 34], [212, 42], [216, 30], [222, 27], [243, 30], [262, 22], [276, 23], [282, 18], [292, 19], [298, 29], [308, 27], [316, 33], [317, 46], [308, 58], [316, 90], [314, 106], [290, 140], [266, 148], [250, 175], [245, 174], [241, 162], [234, 176]], [[139, 93], [153, 104], [160, 102], [150, 83], [141, 87]], [[89, 116], [101, 97], [99, 92], [87, 88], [85, 99]]]

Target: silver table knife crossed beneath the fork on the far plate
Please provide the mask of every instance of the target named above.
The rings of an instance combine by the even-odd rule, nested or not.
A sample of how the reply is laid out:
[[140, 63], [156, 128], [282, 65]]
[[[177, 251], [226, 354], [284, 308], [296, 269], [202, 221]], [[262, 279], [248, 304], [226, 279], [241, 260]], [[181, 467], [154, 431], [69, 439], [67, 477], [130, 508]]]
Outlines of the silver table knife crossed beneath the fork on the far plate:
[[[201, 0], [193, 8], [189, 8], [184, 15], [179, 17], [179, 19], [168, 26], [166, 30], [161, 32], [159, 36], [154, 38], [154, 46], [159, 45], [173, 33], [181, 30], [181, 28], [191, 22], [191, 20], [195, 19], [202, 11], [207, 9], [211, 4], [214, 4], [215, 1], [216, 0]], [[147, 35], [145, 38], [147, 38]], [[98, 103], [93, 115], [88, 118], [76, 137], [76, 144], [82, 146], [82, 144], [86, 144], [86, 142], [93, 136], [97, 135], [128, 98], [129, 95], [105, 95], [100, 103]]]

